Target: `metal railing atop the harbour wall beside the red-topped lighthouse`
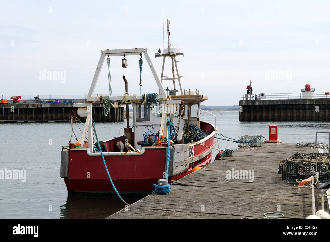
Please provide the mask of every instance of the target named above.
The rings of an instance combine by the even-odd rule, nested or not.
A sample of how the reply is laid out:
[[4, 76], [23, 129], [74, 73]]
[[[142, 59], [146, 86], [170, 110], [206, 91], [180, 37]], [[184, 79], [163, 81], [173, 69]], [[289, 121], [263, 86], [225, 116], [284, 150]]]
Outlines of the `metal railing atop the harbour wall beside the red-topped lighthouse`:
[[325, 92], [303, 92], [303, 93], [263, 93], [248, 95], [242, 94], [241, 100], [272, 100], [272, 99], [315, 99], [315, 98], [330, 98], [325, 95]]

